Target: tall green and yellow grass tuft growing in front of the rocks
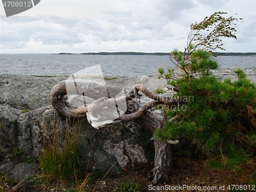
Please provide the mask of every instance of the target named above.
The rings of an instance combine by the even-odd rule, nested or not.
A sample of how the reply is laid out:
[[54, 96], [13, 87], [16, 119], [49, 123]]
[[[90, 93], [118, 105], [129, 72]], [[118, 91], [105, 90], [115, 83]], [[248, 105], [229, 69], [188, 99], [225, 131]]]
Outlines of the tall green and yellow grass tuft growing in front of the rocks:
[[[55, 121], [55, 120], [54, 120]], [[45, 181], [52, 179], [66, 180], [76, 177], [79, 172], [79, 156], [81, 146], [79, 143], [80, 125], [71, 123], [67, 118], [66, 130], [61, 132], [58, 122], [52, 123], [51, 137], [44, 135], [44, 151], [39, 159], [39, 168]], [[47, 127], [42, 126], [42, 131], [47, 132]]]

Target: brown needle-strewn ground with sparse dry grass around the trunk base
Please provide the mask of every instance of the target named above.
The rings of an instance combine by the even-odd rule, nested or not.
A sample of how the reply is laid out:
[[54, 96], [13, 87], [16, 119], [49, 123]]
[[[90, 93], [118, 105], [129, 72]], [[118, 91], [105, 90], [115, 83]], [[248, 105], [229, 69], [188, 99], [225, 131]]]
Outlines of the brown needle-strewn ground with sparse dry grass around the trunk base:
[[[175, 169], [174, 175], [168, 178], [167, 183], [159, 184], [154, 187], [159, 187], [158, 192], [163, 191], [210, 191], [210, 190], [160, 190], [160, 187], [168, 185], [172, 186], [200, 186], [203, 187], [217, 187], [213, 191], [230, 191], [227, 189], [228, 185], [256, 185], [255, 176], [255, 161], [244, 164], [239, 173], [232, 171], [207, 168], [207, 160], [193, 160], [174, 158]], [[90, 178], [94, 177], [92, 173], [88, 173], [77, 178], [69, 178], [66, 181], [56, 181], [49, 183], [49, 186], [34, 185], [27, 187], [23, 191], [69, 191], [69, 192], [128, 192], [128, 191], [154, 191], [150, 190], [152, 185], [152, 170], [153, 162], [145, 164], [130, 164], [123, 169], [121, 176], [112, 176], [96, 179], [90, 183]], [[225, 185], [225, 190], [220, 190], [220, 187]], [[130, 186], [133, 190], [129, 190]], [[152, 185], [153, 186], [153, 185]], [[234, 190], [236, 191], [236, 190]], [[241, 191], [241, 190], [239, 190]], [[248, 191], [248, 190], [247, 190]]]

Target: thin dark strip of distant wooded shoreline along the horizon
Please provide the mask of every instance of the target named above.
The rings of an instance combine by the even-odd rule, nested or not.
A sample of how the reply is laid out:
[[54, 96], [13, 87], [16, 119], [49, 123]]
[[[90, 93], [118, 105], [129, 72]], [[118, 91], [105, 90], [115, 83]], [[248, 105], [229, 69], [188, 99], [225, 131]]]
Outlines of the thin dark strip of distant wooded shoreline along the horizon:
[[[72, 53], [58, 53], [59, 55], [73, 55]], [[169, 55], [170, 53], [143, 53], [143, 52], [98, 52], [98, 53], [80, 53], [81, 55]], [[214, 53], [217, 56], [249, 56], [256, 55], [256, 53]]]

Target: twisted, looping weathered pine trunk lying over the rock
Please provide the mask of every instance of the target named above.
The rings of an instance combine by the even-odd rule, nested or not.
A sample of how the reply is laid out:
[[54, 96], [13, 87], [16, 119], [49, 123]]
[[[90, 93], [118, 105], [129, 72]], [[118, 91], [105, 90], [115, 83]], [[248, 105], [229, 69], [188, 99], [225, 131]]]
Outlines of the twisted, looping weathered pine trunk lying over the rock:
[[[177, 91], [177, 89], [173, 90]], [[139, 91], [152, 100], [142, 104], [139, 99]], [[121, 92], [123, 94], [119, 94]], [[67, 94], [89, 97], [94, 101], [89, 104], [82, 103], [75, 106], [65, 98]], [[131, 90], [125, 91], [121, 88], [105, 86], [97, 81], [85, 79], [77, 79], [75, 82], [70, 80], [59, 82], [52, 88], [50, 100], [60, 114], [74, 118], [87, 117], [96, 129], [120, 121], [134, 120], [150, 131], [152, 136], [154, 136], [157, 129], [162, 129], [163, 116], [148, 110], [154, 108], [157, 104], [173, 106], [180, 103], [179, 98], [168, 98], [151, 93], [142, 84], [136, 84]], [[177, 143], [178, 141], [154, 139], [155, 160], [152, 170], [154, 184], [166, 181], [167, 177], [173, 174], [172, 144]]]

